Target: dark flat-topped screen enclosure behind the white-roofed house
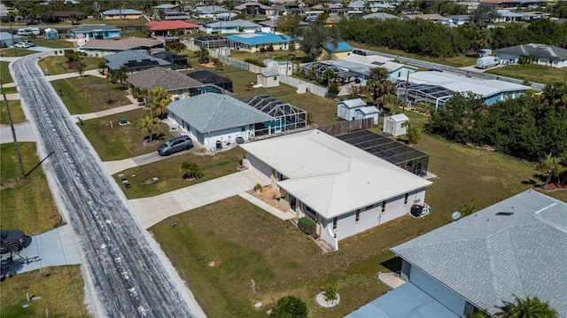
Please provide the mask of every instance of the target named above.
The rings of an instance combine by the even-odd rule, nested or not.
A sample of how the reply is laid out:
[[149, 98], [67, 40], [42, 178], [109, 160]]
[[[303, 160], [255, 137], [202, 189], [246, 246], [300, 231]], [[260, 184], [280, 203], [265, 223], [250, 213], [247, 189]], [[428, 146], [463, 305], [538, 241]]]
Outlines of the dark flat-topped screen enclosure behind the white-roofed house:
[[429, 155], [404, 143], [368, 130], [359, 130], [337, 138], [415, 175], [427, 175]]

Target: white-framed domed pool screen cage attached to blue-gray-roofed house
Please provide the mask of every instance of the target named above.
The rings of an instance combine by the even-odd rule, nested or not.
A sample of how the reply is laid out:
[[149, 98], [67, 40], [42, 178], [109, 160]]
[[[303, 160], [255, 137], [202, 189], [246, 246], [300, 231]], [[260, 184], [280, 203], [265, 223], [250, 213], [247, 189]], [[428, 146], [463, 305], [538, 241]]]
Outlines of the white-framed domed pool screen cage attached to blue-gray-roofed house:
[[307, 127], [306, 111], [275, 97], [260, 95], [246, 99], [244, 102], [275, 118], [275, 120], [257, 125], [256, 136], [277, 134]]

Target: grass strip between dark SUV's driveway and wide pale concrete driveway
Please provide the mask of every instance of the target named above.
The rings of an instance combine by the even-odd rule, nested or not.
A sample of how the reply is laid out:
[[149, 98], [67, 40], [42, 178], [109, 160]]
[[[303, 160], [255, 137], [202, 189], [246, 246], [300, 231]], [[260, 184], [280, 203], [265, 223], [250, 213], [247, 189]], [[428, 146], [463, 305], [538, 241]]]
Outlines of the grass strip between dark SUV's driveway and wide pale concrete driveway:
[[[159, 144], [161, 144], [161, 142]], [[153, 151], [157, 150], [157, 145], [152, 149]], [[244, 158], [244, 156], [245, 151], [240, 147], [235, 147], [229, 151], [216, 152], [214, 155], [186, 153], [141, 167], [132, 167], [120, 172], [120, 174], [128, 176], [128, 181], [131, 184], [131, 187], [128, 189], [121, 187], [122, 184], [118, 178], [118, 174], [113, 175], [113, 177], [116, 182], [119, 182], [127, 198], [153, 197], [169, 191], [182, 189], [199, 182], [213, 180], [223, 175], [233, 174], [238, 171], [238, 161]], [[193, 181], [183, 179], [183, 171], [179, 170], [179, 165], [182, 161], [198, 164], [203, 172], [203, 177]], [[130, 175], [136, 175], [136, 179], [129, 177]], [[153, 176], [158, 176], [159, 182], [153, 185], [142, 184], [145, 178]]]

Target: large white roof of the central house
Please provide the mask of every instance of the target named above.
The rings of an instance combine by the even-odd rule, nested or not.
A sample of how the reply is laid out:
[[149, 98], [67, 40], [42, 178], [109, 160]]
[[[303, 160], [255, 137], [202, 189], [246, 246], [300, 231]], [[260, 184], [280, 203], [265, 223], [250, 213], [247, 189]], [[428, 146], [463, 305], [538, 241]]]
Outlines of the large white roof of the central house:
[[240, 146], [288, 177], [277, 184], [326, 219], [431, 184], [316, 129]]

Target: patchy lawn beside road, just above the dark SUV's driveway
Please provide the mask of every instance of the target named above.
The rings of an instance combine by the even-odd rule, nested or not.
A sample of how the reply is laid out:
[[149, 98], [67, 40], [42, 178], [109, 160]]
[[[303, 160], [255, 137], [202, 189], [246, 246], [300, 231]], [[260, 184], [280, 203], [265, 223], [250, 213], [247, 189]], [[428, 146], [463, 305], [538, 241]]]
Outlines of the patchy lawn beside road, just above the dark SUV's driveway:
[[[171, 133], [169, 133], [169, 127], [166, 124], [161, 124], [159, 131], [156, 132], [157, 135], [161, 135], [159, 136], [160, 143], [144, 145], [144, 140], [148, 136], [143, 135], [140, 128], [136, 128], [136, 122], [149, 114], [149, 111], [140, 107], [140, 109], [135, 111], [120, 112], [93, 120], [84, 120], [84, 125], [79, 125], [79, 128], [89, 139], [90, 144], [92, 144], [103, 161], [128, 159], [151, 151], [157, 151], [160, 143], [172, 137]], [[121, 118], [127, 119], [130, 124], [120, 126], [119, 120]], [[111, 121], [114, 128], [110, 126]]]

